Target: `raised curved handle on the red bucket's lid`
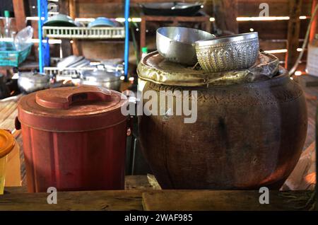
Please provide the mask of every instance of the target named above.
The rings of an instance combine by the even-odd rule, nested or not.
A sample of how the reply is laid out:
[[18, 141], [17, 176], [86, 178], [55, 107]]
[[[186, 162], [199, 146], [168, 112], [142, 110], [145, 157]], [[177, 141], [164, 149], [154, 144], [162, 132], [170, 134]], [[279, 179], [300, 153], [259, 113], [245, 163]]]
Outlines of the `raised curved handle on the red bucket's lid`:
[[35, 95], [37, 104], [45, 108], [68, 109], [73, 103], [89, 103], [100, 100], [108, 101], [111, 91], [98, 86], [77, 86], [67, 88], [53, 88], [38, 91]]

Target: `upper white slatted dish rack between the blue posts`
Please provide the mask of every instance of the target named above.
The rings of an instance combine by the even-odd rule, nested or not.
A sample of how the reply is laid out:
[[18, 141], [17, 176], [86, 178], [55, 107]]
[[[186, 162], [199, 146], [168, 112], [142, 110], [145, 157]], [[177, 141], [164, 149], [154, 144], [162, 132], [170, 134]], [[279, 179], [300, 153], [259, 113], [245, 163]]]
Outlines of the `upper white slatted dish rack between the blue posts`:
[[44, 37], [71, 39], [120, 39], [125, 37], [124, 27], [120, 28], [74, 28], [43, 26]]

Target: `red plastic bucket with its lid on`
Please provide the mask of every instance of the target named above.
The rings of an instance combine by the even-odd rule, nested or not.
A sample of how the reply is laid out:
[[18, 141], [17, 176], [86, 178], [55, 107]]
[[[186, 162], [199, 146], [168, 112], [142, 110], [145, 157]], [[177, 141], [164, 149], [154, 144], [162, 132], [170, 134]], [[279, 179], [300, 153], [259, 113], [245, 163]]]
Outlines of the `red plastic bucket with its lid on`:
[[126, 97], [96, 86], [54, 88], [18, 103], [29, 192], [124, 189]]

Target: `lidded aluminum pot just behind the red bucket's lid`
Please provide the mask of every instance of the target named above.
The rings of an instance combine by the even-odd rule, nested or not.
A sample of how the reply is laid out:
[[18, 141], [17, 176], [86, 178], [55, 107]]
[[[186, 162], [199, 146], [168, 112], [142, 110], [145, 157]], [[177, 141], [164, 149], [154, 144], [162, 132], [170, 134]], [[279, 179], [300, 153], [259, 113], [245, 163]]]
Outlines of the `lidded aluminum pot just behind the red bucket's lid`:
[[106, 69], [104, 66], [90, 71], [83, 71], [81, 75], [81, 84], [101, 86], [114, 91], [120, 91], [121, 73], [116, 70]]

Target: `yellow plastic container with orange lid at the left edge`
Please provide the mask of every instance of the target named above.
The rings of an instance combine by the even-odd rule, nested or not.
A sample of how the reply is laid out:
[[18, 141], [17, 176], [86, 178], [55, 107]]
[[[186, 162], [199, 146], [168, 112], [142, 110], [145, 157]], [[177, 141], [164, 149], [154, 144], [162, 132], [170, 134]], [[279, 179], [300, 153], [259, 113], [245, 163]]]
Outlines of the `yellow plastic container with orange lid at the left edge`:
[[4, 129], [0, 129], [0, 195], [4, 194], [4, 183], [6, 176], [6, 161], [8, 154], [15, 145], [13, 135]]

